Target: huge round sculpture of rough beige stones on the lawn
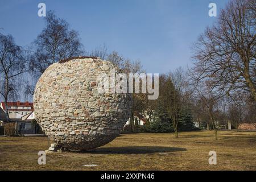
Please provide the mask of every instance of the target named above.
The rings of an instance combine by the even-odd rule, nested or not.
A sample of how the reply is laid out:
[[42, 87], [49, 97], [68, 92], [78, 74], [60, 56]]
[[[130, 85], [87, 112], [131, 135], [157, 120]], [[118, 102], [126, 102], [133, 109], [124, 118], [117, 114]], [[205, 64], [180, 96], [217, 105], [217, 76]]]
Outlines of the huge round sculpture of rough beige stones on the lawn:
[[89, 150], [111, 142], [127, 122], [129, 94], [99, 93], [97, 78], [118, 69], [97, 57], [50, 65], [36, 84], [35, 118], [56, 148]]

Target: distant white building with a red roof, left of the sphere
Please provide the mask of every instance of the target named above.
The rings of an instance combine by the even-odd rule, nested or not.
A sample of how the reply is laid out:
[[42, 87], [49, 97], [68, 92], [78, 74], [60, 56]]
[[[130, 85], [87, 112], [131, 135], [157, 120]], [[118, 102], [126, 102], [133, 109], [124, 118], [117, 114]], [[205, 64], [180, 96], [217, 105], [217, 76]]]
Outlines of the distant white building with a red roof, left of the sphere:
[[[5, 102], [1, 102], [0, 107], [5, 111]], [[7, 102], [8, 113], [18, 113], [21, 115], [27, 115], [34, 111], [32, 102]]]

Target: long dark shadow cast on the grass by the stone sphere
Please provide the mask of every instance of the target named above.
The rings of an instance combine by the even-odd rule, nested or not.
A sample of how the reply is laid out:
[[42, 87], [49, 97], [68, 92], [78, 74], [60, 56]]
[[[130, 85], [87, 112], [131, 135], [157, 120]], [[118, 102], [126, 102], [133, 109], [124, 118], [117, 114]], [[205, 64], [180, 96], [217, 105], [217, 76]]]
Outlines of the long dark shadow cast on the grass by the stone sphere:
[[160, 146], [128, 146], [128, 147], [102, 147], [85, 151], [89, 154], [152, 154], [164, 152], [187, 151], [186, 148], [160, 147]]

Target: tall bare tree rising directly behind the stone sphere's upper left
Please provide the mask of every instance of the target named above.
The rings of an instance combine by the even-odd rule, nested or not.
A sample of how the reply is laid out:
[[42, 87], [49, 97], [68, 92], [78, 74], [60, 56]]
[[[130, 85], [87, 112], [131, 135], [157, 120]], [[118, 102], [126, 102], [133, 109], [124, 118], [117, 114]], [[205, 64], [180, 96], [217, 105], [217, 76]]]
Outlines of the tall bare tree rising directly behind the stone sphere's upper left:
[[[64, 19], [57, 18], [53, 11], [49, 11], [45, 21], [46, 27], [34, 41], [35, 51], [30, 59], [30, 70], [36, 80], [49, 65], [84, 53], [79, 33], [70, 30]], [[35, 83], [27, 85], [26, 93], [34, 94], [34, 86]]]

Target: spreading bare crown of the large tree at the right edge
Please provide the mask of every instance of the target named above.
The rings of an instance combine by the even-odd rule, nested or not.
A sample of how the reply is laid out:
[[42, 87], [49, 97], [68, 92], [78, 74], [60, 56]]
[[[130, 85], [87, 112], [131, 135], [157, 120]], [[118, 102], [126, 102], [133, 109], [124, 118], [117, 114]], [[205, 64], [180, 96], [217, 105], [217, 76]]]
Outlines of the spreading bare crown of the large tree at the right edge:
[[195, 76], [208, 78], [216, 93], [231, 96], [240, 90], [256, 101], [255, 3], [230, 1], [217, 24], [208, 27], [195, 44]]

